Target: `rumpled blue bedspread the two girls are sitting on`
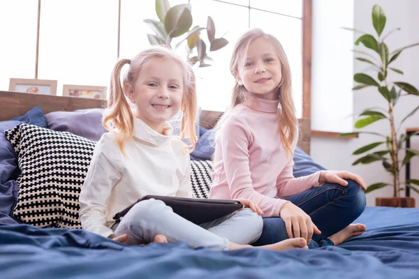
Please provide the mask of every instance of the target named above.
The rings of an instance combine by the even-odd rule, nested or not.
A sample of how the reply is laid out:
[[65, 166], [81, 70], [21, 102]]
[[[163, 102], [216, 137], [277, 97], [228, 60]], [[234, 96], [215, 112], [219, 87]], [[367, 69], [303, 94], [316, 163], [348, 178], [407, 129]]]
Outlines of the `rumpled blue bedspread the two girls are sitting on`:
[[[124, 246], [82, 230], [0, 226], [0, 278], [419, 278], [419, 209], [367, 208], [339, 247], [274, 252]], [[358, 222], [357, 221], [357, 222]]]

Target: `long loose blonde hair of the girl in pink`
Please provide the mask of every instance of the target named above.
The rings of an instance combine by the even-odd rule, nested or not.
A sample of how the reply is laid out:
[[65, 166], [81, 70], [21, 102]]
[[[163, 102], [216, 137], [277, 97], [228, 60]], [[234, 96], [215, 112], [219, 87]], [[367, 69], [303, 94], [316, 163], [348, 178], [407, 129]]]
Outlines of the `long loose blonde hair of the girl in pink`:
[[[261, 29], [249, 29], [245, 32], [235, 44], [233, 49], [233, 56], [230, 61], [230, 72], [233, 76], [236, 77], [237, 73], [240, 72], [240, 69], [244, 67], [245, 59], [247, 56], [247, 51], [249, 50], [249, 45], [253, 40], [257, 38], [267, 38], [270, 40], [272, 45], [276, 50], [276, 54], [281, 62], [281, 83], [278, 86], [278, 96], [279, 96], [279, 108], [278, 108], [278, 133], [282, 141], [282, 146], [284, 147], [288, 160], [293, 158], [293, 149], [291, 144], [293, 143], [294, 138], [297, 136], [298, 121], [295, 116], [295, 105], [293, 101], [292, 88], [291, 88], [291, 68], [288, 63], [288, 58], [284, 52], [279, 40], [274, 36], [265, 33]], [[233, 108], [241, 103], [243, 103], [248, 95], [247, 89], [235, 81], [233, 87], [233, 92], [231, 96], [231, 103], [228, 109], [228, 112], [224, 116], [228, 116], [229, 112]], [[221, 125], [222, 121], [220, 121]]]

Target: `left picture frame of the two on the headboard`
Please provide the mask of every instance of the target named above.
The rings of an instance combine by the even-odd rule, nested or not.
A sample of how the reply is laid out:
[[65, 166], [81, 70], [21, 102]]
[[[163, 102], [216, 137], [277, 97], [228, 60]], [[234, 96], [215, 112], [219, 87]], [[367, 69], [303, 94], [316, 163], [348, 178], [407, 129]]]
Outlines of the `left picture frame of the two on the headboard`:
[[57, 95], [57, 80], [10, 78], [9, 91]]

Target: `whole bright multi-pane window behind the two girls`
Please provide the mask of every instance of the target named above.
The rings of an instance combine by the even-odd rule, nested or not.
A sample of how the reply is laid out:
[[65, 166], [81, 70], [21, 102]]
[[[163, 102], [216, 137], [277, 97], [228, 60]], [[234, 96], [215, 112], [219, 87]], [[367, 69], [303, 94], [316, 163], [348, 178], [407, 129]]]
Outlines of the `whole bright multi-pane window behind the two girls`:
[[[206, 27], [210, 15], [216, 37], [229, 44], [210, 52], [213, 65], [198, 68], [198, 104], [204, 110], [226, 110], [234, 79], [230, 56], [237, 38], [252, 27], [276, 36], [291, 63], [297, 116], [302, 116], [302, 2], [303, 0], [169, 0], [171, 6], [191, 3], [193, 26]], [[155, 1], [42, 0], [37, 29], [38, 1], [0, 3], [3, 44], [0, 86], [8, 89], [10, 77], [58, 80], [63, 84], [107, 86], [117, 58], [131, 58], [149, 47], [152, 33], [146, 18], [157, 19]], [[120, 3], [120, 13], [119, 13]], [[118, 19], [120, 18], [120, 22]], [[119, 29], [118, 29], [119, 28]], [[119, 33], [119, 41], [118, 41]], [[36, 60], [36, 38], [38, 60]]]

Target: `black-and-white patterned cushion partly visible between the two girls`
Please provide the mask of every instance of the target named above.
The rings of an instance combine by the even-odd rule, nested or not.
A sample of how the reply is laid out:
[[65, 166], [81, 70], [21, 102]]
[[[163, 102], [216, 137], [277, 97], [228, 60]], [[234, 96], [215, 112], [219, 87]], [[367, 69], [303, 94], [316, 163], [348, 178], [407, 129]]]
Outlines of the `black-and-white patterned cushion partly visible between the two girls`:
[[211, 186], [212, 162], [192, 160], [191, 167], [192, 196], [207, 199]]

